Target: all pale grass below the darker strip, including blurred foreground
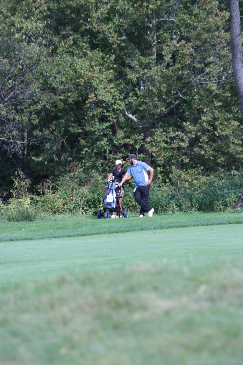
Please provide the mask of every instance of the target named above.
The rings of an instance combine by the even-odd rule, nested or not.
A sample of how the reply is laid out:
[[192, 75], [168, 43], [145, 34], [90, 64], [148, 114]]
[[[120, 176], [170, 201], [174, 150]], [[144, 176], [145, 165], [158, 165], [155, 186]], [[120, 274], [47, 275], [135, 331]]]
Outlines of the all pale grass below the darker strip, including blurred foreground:
[[1, 365], [242, 364], [242, 223], [91, 234], [0, 242]]

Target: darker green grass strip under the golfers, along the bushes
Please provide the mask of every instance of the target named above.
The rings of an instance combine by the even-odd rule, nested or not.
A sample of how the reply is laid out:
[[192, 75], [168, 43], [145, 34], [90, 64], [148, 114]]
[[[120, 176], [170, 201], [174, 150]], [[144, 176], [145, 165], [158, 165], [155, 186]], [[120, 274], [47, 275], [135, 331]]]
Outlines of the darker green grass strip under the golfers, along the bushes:
[[94, 219], [85, 216], [55, 216], [35, 222], [0, 222], [0, 241], [76, 237], [137, 230], [243, 223], [242, 212], [179, 213], [152, 218]]

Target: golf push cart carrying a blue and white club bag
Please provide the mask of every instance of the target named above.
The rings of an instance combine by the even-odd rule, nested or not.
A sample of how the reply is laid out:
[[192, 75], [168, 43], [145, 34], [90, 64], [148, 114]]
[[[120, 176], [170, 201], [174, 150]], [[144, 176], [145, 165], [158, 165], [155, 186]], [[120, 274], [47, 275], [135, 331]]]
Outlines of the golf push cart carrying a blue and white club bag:
[[128, 218], [128, 210], [127, 208], [124, 209], [124, 212], [121, 211], [121, 208], [119, 206], [118, 199], [122, 198], [121, 195], [119, 195], [119, 188], [117, 188], [118, 181], [115, 180], [114, 176], [111, 177], [108, 185], [105, 187], [106, 192], [103, 197], [103, 212], [101, 209], [98, 209], [97, 211], [97, 218], [101, 219], [103, 216], [105, 218], [110, 218], [109, 215], [114, 213], [117, 213], [118, 218], [120, 218], [121, 215], [124, 216], [124, 218]]

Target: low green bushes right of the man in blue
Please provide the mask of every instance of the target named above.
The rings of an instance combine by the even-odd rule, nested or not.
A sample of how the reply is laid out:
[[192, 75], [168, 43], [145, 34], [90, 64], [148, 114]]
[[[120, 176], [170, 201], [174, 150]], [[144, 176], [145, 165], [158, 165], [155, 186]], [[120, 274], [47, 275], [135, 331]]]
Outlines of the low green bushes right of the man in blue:
[[[173, 185], [168, 183], [160, 188], [161, 196], [162, 192], [166, 194], [165, 201], [168, 208], [165, 207], [164, 211], [224, 211], [232, 208], [240, 195], [242, 170], [232, 170], [231, 173], [221, 172], [211, 177], [188, 176], [178, 170], [174, 172], [171, 176]], [[162, 197], [159, 196], [152, 200], [158, 211], [162, 201]]]

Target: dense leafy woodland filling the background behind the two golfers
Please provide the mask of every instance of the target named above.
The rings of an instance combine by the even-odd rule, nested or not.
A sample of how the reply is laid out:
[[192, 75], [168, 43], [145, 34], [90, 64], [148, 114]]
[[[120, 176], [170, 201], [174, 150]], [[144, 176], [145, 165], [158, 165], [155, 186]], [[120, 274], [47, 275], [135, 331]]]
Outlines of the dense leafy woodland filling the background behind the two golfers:
[[155, 170], [157, 211], [232, 206], [243, 124], [230, 41], [227, 0], [0, 0], [2, 201], [48, 193], [52, 212], [93, 214], [114, 161], [135, 153]]

